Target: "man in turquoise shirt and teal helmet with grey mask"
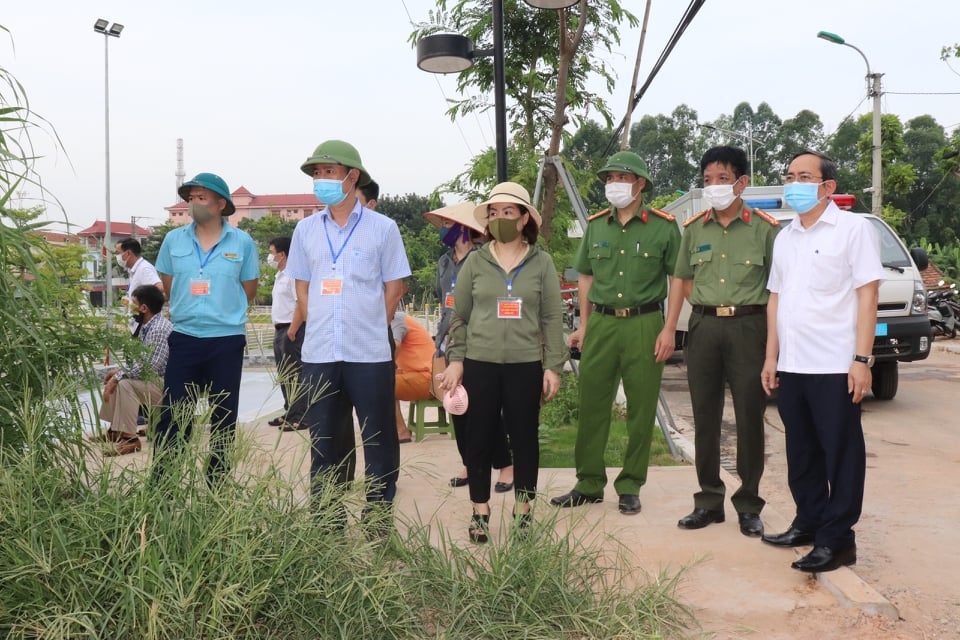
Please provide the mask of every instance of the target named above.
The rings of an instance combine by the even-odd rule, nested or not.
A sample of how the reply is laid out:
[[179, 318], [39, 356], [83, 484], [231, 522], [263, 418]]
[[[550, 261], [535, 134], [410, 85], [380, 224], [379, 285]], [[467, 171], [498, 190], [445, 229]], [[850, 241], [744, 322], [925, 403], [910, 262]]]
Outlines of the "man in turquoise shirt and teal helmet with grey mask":
[[189, 439], [193, 403], [207, 390], [212, 406], [207, 481], [213, 485], [229, 470], [226, 451], [236, 437], [247, 307], [257, 293], [260, 266], [253, 239], [224, 220], [236, 208], [222, 178], [198, 174], [178, 193], [194, 222], [168, 233], [157, 256], [173, 333], [153, 475], [162, 478], [171, 454]]

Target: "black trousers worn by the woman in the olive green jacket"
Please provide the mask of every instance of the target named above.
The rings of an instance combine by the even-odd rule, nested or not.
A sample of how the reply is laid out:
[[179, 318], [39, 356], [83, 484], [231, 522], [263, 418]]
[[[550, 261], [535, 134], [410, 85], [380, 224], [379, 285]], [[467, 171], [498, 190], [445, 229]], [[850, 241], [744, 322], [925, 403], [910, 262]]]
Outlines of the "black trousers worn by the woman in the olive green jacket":
[[461, 431], [471, 502], [490, 501], [494, 451], [504, 429], [513, 453], [514, 493], [518, 500], [533, 500], [540, 471], [537, 431], [543, 367], [539, 362], [494, 364], [466, 359], [463, 386], [469, 398], [466, 427]]

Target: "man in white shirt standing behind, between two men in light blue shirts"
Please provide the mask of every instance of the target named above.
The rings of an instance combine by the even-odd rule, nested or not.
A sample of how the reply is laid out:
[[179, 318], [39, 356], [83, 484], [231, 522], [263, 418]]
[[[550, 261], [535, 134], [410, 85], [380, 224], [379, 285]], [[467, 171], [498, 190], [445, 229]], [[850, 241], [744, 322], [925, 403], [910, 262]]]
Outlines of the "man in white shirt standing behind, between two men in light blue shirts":
[[280, 391], [283, 393], [283, 415], [270, 420], [268, 424], [282, 431], [298, 431], [307, 427], [302, 422], [307, 410], [307, 393], [300, 384], [300, 370], [303, 368], [300, 352], [303, 349], [305, 323], [303, 312], [297, 305], [297, 283], [287, 275], [289, 253], [289, 236], [270, 241], [267, 264], [278, 270], [273, 281], [270, 318], [276, 331], [273, 336], [273, 357], [277, 363]]

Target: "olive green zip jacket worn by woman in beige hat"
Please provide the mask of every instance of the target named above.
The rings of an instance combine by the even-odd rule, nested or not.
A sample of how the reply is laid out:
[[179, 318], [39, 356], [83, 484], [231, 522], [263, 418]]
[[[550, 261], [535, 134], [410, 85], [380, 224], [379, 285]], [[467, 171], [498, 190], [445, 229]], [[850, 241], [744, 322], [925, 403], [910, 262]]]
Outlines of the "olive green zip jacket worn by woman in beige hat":
[[[563, 301], [553, 258], [537, 246], [510, 274], [504, 273], [490, 252], [490, 244], [463, 262], [454, 288], [454, 317], [450, 323], [447, 357], [498, 364], [542, 362], [557, 373], [567, 360], [563, 342]], [[523, 300], [521, 317], [497, 317], [497, 300]]]

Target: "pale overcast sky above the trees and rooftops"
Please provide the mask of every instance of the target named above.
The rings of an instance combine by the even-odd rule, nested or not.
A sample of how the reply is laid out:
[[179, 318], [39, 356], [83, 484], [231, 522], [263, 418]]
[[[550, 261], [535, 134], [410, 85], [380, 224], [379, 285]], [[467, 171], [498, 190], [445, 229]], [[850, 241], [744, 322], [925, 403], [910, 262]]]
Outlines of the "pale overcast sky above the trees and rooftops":
[[[93, 31], [100, 17], [125, 26], [109, 39], [114, 221], [165, 220], [163, 207], [176, 201], [178, 138], [188, 178], [212, 171], [231, 190], [255, 194], [310, 192], [299, 166], [329, 138], [353, 143], [393, 195], [427, 195], [493, 145], [492, 112], [451, 123], [445, 95], [456, 97], [455, 78], [417, 69], [407, 36], [411, 20], [427, 19], [431, 0], [6, 4], [0, 25], [11, 36], [0, 36], [0, 66], [63, 143], [33, 139], [44, 185], [63, 205], [48, 203], [48, 217], [77, 228], [104, 214], [104, 36]], [[641, 0], [623, 4], [642, 16]], [[641, 82], [686, 4], [653, 1]], [[960, 40], [957, 25], [957, 0], [708, 0], [633, 118], [685, 103], [709, 121], [741, 101], [766, 101], [783, 119], [811, 109], [832, 131], [871, 102], [863, 59], [816, 38], [827, 30], [885, 74], [885, 113], [904, 122], [931, 114], [949, 131], [960, 125], [960, 95], [900, 93], [960, 93], [960, 60], [952, 69], [940, 60], [941, 47]], [[611, 57], [620, 77], [608, 97], [617, 120], [639, 37], [639, 28], [623, 31], [623, 48]], [[39, 197], [27, 188], [12, 204]]]

